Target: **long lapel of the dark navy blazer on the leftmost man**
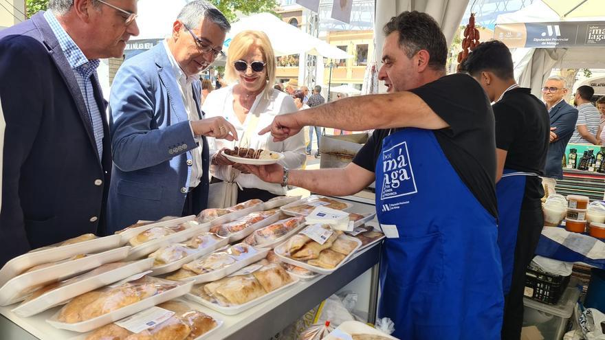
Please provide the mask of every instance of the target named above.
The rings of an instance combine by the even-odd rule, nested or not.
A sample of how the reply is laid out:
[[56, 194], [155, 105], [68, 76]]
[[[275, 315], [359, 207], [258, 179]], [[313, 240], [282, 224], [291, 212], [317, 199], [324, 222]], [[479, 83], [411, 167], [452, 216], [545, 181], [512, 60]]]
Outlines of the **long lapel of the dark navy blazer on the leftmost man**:
[[[63, 54], [63, 51], [61, 50], [61, 45], [59, 45], [59, 41], [54, 35], [54, 32], [52, 32], [50, 25], [48, 25], [46, 19], [44, 19], [43, 12], [32, 16], [32, 21], [34, 22], [34, 25], [38, 27], [38, 30], [41, 32], [43, 41], [49, 49], [50, 56], [53, 58], [54, 63], [57, 65], [57, 69], [59, 70], [59, 73], [61, 73], [65, 84], [67, 84], [69, 92], [72, 93], [72, 98], [74, 98], [74, 102], [76, 102], [78, 113], [80, 113], [80, 118], [82, 119], [84, 128], [88, 134], [88, 139], [91, 143], [91, 146], [94, 148], [95, 151], [97, 151], [97, 144], [94, 138], [92, 122], [90, 121], [90, 115], [88, 113], [88, 110], [86, 109], [86, 104], [84, 102], [82, 91], [80, 90], [80, 87], [78, 86], [78, 81], [76, 80], [76, 76], [74, 75], [74, 70], [72, 70], [72, 67], [69, 65], [67, 58], [65, 58], [65, 54]], [[98, 152], [96, 153], [98, 158]]]

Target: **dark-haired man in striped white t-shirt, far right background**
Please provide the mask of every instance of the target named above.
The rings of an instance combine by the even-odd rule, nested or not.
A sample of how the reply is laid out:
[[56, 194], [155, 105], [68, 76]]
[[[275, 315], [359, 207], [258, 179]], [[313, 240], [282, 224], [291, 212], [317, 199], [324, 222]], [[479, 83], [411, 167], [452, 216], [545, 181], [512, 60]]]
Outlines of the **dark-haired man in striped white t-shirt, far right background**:
[[590, 143], [599, 145], [597, 136], [601, 114], [591, 102], [595, 89], [588, 85], [583, 85], [575, 90], [573, 95], [573, 104], [577, 108], [577, 122], [575, 131], [569, 139], [570, 143]]

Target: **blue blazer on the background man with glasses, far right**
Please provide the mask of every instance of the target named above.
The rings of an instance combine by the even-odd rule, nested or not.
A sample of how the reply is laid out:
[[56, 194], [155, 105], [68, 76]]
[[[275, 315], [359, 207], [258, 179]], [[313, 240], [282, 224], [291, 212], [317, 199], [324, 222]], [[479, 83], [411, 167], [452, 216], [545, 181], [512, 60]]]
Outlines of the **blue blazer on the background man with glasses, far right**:
[[556, 128], [553, 133], [557, 134], [558, 139], [549, 145], [544, 177], [563, 179], [562, 159], [567, 142], [569, 142], [573, 131], [575, 131], [577, 109], [563, 100], [553, 106], [551, 112], [549, 112], [549, 116], [551, 119], [551, 128]]

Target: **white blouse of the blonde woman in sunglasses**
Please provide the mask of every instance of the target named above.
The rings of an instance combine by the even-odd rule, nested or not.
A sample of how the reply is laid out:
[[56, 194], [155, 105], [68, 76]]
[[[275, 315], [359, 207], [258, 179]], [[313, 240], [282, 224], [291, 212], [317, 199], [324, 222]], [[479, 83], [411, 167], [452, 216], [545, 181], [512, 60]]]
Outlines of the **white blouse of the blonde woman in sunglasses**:
[[[208, 138], [208, 146], [210, 148], [210, 155], [214, 155], [217, 150], [221, 148], [233, 148], [234, 146], [248, 147], [248, 148], [264, 148], [276, 152], [282, 152], [285, 157], [279, 161], [282, 166], [289, 169], [297, 169], [303, 166], [307, 156], [305, 155], [305, 135], [301, 130], [296, 135], [289, 137], [285, 141], [273, 141], [273, 137], [270, 133], [266, 135], [259, 135], [266, 126], [269, 126], [276, 115], [282, 115], [284, 113], [294, 113], [298, 111], [296, 104], [292, 97], [273, 89], [272, 87], [267, 88], [256, 96], [254, 104], [250, 113], [246, 115], [243, 124], [236, 117], [233, 111], [233, 87], [221, 87], [221, 89], [214, 90], [208, 94], [208, 98], [204, 100], [201, 109], [206, 113], [206, 118], [222, 116], [233, 124], [236, 128], [237, 136], [239, 141], [228, 141], [226, 139], [214, 139]], [[252, 133], [244, 135], [248, 129], [248, 124], [254, 119], [252, 115], [258, 117], [256, 127]], [[210, 166], [210, 174], [218, 179], [225, 180], [228, 178], [230, 167], [228, 166]], [[239, 183], [241, 188], [257, 188], [261, 190], [267, 190], [273, 194], [283, 195], [286, 193], [287, 188], [282, 188], [277, 183], [267, 183], [261, 181], [259, 177], [254, 174], [239, 174], [236, 177], [236, 182]]]

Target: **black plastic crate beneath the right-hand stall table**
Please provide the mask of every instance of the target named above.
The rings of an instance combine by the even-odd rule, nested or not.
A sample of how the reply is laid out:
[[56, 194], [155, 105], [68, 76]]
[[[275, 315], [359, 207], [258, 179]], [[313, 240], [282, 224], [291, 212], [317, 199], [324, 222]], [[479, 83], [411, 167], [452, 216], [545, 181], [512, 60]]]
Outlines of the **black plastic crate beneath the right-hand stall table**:
[[571, 275], [553, 275], [529, 266], [525, 270], [524, 295], [544, 304], [557, 304], [569, 283], [569, 277]]

